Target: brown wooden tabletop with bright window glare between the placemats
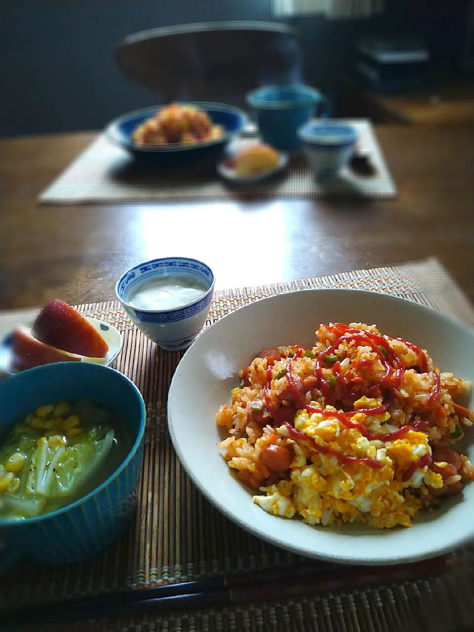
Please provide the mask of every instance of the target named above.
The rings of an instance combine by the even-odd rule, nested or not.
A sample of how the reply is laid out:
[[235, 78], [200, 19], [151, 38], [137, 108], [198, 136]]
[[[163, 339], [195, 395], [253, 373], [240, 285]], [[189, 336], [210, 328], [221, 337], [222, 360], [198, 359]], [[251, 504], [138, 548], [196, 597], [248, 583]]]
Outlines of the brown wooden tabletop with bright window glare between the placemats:
[[0, 142], [0, 308], [114, 298], [123, 270], [174, 254], [217, 288], [438, 257], [474, 299], [473, 145], [467, 128], [377, 127], [397, 200], [37, 205], [94, 133]]

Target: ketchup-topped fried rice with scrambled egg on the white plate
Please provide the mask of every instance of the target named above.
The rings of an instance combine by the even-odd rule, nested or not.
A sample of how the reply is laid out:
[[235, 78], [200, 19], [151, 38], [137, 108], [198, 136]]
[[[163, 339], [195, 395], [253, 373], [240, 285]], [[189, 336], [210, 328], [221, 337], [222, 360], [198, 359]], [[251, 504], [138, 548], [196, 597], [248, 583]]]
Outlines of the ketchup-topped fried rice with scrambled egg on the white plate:
[[375, 325], [320, 325], [310, 349], [265, 349], [240, 371], [217, 424], [222, 456], [265, 511], [310, 525], [411, 526], [461, 493], [474, 467], [454, 446], [470, 382]]

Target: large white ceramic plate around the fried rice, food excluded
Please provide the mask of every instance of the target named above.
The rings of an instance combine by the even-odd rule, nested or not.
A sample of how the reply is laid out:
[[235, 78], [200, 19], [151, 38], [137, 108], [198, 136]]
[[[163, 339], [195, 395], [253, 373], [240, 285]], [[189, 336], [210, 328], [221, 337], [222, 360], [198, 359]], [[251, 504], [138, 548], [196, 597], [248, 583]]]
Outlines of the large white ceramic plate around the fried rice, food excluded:
[[[235, 480], [219, 454], [216, 413], [231, 401], [238, 370], [265, 348], [310, 346], [320, 323], [377, 324], [428, 350], [444, 371], [474, 381], [474, 332], [449, 317], [401, 298], [350, 289], [315, 289], [272, 296], [230, 313], [188, 349], [174, 374], [168, 423], [174, 447], [198, 489], [217, 509], [254, 535], [299, 554], [352, 564], [395, 564], [436, 556], [474, 537], [474, 482], [420, 511], [412, 528], [308, 526], [265, 513]], [[462, 402], [473, 406], [473, 398]], [[474, 428], [474, 427], [473, 427]], [[473, 434], [459, 446], [474, 459]]]

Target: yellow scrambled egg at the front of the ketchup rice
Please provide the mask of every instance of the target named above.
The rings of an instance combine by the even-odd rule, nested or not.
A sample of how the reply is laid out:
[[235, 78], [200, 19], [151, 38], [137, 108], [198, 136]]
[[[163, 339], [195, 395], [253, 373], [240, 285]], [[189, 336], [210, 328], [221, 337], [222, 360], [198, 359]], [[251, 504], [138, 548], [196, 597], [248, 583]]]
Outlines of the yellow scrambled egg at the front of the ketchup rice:
[[[355, 409], [377, 405], [377, 400], [361, 398]], [[335, 409], [327, 406], [326, 410]], [[388, 413], [374, 416], [356, 413], [351, 417], [351, 421], [363, 423], [370, 432], [379, 434], [396, 430], [386, 424], [388, 420]], [[428, 466], [417, 468], [408, 480], [401, 480], [411, 463], [431, 454], [428, 437], [423, 432], [410, 430], [394, 441], [369, 441], [360, 430], [347, 428], [336, 417], [308, 415], [306, 410], [296, 414], [295, 429], [312, 437], [320, 446], [347, 456], [374, 459], [382, 466], [340, 463], [336, 456], [321, 454], [311, 442], [291, 439], [288, 429], [282, 426], [277, 432], [287, 437], [286, 442], [295, 453], [289, 480], [262, 487], [266, 495], [253, 497], [270, 514], [285, 518], [299, 515], [310, 525], [360, 521], [377, 528], [411, 526], [421, 500], [408, 488], [419, 488], [423, 495], [427, 494], [427, 487], [443, 485], [441, 474]]]

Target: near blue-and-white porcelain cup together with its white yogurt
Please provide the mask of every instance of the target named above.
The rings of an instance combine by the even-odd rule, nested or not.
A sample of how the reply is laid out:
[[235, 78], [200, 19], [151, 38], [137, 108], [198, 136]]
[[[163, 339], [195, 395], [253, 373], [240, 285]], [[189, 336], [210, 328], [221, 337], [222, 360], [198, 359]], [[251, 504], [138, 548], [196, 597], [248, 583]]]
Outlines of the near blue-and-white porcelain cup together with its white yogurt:
[[214, 274], [196, 259], [166, 257], [130, 268], [116, 295], [145, 336], [167, 351], [186, 349], [205, 323]]

